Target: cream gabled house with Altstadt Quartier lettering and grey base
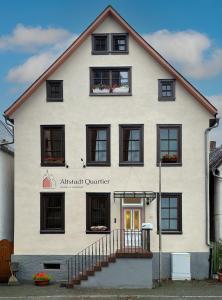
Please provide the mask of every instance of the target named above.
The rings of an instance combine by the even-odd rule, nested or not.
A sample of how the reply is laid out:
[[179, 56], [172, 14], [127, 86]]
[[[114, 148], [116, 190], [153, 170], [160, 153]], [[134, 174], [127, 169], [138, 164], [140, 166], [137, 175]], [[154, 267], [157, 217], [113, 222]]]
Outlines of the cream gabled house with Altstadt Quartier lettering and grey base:
[[[109, 260], [117, 254], [131, 260], [117, 264], [119, 273], [114, 265], [101, 272], [100, 283], [104, 274], [120, 280], [132, 270], [137, 280], [146, 281], [146, 272], [151, 280], [158, 278], [158, 201], [150, 197], [159, 190], [161, 158], [162, 276], [171, 277], [172, 253], [187, 252], [191, 277], [208, 277], [204, 132], [216, 113], [106, 8], [5, 111], [16, 137], [18, 276], [31, 279], [34, 271], [46, 269], [55, 279], [66, 279], [67, 259], [86, 249], [69, 264], [84, 276], [85, 264], [95, 262], [98, 253], [104, 258], [105, 244]], [[153, 224], [153, 258], [135, 260], [134, 255], [151, 257], [142, 222]]]

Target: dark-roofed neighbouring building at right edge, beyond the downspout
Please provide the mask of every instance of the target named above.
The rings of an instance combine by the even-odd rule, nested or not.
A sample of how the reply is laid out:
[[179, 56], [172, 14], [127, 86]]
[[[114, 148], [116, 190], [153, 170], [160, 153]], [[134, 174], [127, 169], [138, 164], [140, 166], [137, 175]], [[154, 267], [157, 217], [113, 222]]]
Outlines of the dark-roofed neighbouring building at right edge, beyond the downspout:
[[211, 206], [211, 240], [222, 239], [222, 146], [210, 151], [210, 206]]

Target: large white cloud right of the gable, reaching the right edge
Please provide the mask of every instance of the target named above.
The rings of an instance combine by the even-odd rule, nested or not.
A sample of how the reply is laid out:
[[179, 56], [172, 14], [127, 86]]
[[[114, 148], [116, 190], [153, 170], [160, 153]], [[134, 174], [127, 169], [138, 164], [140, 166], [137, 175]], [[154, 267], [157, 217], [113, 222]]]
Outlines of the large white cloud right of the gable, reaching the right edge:
[[222, 49], [203, 33], [163, 29], [143, 37], [186, 76], [206, 79], [222, 72]]

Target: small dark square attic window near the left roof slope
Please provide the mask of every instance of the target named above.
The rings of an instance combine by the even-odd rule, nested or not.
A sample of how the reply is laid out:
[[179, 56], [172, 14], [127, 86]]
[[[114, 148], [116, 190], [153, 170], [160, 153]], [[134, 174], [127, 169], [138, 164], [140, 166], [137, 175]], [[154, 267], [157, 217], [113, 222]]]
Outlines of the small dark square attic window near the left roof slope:
[[63, 81], [47, 80], [46, 81], [47, 102], [63, 101]]

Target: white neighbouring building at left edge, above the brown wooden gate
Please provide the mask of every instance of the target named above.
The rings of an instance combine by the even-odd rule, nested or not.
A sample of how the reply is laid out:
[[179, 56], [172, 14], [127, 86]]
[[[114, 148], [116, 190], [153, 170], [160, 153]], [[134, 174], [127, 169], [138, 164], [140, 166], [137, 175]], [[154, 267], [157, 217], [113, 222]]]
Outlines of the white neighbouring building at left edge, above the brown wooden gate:
[[13, 241], [14, 149], [11, 129], [0, 120], [0, 240]]

